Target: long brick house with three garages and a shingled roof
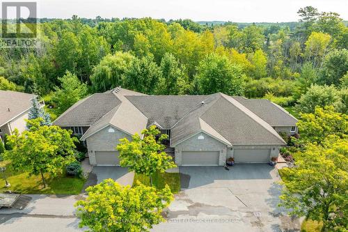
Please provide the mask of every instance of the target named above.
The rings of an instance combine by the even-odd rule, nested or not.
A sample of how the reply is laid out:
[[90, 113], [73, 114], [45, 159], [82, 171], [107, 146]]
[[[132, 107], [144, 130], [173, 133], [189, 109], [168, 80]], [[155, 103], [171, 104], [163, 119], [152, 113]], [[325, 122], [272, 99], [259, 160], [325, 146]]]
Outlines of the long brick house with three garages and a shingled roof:
[[59, 116], [54, 125], [86, 141], [90, 164], [118, 165], [119, 139], [156, 125], [169, 136], [177, 165], [267, 163], [286, 143], [278, 132], [297, 132], [296, 118], [264, 99], [211, 95], [145, 95], [123, 88], [95, 93]]

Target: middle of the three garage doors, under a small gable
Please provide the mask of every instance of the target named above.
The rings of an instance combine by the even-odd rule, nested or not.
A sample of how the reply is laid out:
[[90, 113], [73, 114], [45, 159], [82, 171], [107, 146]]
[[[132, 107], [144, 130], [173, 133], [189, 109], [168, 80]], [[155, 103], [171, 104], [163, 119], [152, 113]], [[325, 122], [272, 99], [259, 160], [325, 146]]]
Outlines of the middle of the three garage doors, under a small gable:
[[183, 151], [182, 165], [217, 166], [219, 165], [219, 151]]

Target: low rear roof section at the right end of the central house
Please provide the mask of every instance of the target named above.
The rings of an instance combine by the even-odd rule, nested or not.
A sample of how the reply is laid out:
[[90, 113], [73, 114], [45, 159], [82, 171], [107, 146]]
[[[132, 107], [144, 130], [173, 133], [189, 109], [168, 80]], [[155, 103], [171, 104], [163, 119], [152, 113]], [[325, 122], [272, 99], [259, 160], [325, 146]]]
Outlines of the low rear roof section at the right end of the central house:
[[294, 118], [294, 116], [267, 99], [247, 99], [243, 97], [233, 98], [271, 126], [293, 126], [297, 123], [297, 119]]

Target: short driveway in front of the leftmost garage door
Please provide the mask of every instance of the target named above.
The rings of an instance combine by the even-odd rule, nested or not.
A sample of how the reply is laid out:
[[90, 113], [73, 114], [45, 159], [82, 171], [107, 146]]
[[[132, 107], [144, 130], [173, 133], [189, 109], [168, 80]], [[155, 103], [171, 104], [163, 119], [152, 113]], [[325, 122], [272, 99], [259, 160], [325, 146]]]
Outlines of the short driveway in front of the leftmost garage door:
[[129, 172], [127, 168], [118, 166], [95, 166], [88, 176], [84, 190], [90, 185], [99, 184], [109, 178], [120, 185], [133, 185], [134, 172]]

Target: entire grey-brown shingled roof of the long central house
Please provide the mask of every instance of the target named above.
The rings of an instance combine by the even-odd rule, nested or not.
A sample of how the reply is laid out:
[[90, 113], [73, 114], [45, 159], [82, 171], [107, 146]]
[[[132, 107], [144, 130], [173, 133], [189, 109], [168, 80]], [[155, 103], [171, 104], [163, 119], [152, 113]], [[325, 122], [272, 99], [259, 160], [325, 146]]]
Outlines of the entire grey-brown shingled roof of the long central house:
[[[82, 125], [81, 121], [90, 123], [82, 140], [107, 125], [134, 134], [148, 125], [156, 124], [162, 128], [171, 128], [172, 145], [197, 132], [205, 132], [232, 145], [285, 144], [269, 122], [277, 115], [280, 115], [278, 122], [285, 123], [283, 125], [293, 123], [296, 119], [269, 101], [261, 101], [264, 108], [260, 112], [256, 110], [260, 107], [253, 107], [258, 105], [256, 101], [250, 102], [253, 104], [244, 98], [232, 98], [223, 93], [154, 96], [115, 88], [78, 102], [58, 118], [55, 124], [59, 125], [61, 121], [65, 125]], [[269, 113], [264, 111], [272, 111], [275, 115], [268, 116]], [[272, 122], [274, 121], [276, 120]]]

